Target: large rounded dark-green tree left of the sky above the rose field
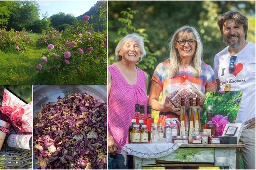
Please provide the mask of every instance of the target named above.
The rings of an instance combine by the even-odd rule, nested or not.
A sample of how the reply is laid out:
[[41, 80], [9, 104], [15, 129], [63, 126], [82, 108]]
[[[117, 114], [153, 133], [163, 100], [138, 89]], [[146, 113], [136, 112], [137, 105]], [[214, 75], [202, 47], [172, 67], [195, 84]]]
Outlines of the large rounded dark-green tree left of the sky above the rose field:
[[13, 5], [7, 28], [21, 31], [29, 28], [35, 20], [39, 19], [39, 5], [36, 1], [16, 1]]

